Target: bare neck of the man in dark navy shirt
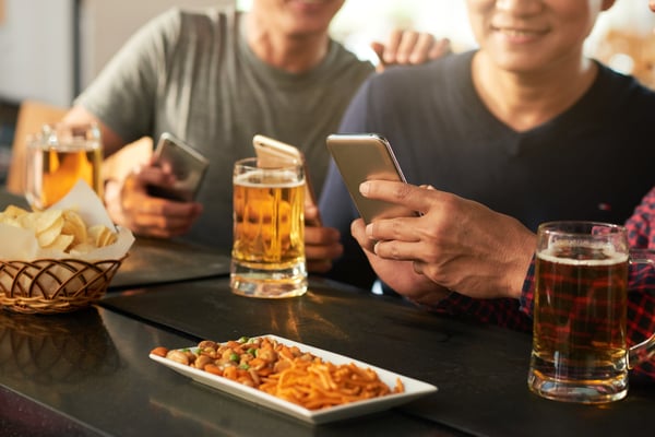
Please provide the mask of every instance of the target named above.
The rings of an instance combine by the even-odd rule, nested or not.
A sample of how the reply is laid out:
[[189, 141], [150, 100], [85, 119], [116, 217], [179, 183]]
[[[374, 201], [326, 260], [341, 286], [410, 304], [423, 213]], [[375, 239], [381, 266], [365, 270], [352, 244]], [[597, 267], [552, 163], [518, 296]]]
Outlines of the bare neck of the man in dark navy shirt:
[[484, 52], [474, 57], [473, 82], [489, 110], [516, 131], [533, 129], [573, 106], [592, 86], [597, 68], [588, 59], [539, 72], [511, 72]]

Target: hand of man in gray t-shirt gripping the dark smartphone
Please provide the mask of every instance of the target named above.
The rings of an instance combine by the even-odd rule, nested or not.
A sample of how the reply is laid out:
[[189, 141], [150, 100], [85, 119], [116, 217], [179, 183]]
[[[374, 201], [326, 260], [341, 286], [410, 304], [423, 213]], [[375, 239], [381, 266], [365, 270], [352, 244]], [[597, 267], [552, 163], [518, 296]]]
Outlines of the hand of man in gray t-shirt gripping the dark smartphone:
[[156, 198], [147, 192], [148, 185], [170, 185], [172, 177], [159, 167], [145, 165], [122, 181], [108, 181], [105, 203], [114, 223], [148, 237], [171, 238], [189, 232], [202, 213], [202, 204]]

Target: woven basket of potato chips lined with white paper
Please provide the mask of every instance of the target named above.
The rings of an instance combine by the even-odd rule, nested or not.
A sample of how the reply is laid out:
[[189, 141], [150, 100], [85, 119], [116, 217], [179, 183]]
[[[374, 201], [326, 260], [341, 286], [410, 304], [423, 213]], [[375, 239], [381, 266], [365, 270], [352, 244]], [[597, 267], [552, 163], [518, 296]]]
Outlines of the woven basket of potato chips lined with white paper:
[[0, 248], [0, 306], [59, 314], [102, 298], [133, 236], [95, 216], [59, 204], [41, 212], [13, 205], [0, 212], [0, 238], [12, 241]]

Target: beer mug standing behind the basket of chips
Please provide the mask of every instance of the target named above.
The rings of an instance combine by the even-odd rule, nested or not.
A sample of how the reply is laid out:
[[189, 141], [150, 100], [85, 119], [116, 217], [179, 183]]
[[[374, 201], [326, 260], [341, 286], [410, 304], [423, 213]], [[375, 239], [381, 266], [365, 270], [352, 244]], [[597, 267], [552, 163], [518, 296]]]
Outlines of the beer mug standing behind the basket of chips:
[[25, 197], [45, 210], [84, 180], [103, 197], [103, 143], [96, 125], [44, 125], [27, 140]]

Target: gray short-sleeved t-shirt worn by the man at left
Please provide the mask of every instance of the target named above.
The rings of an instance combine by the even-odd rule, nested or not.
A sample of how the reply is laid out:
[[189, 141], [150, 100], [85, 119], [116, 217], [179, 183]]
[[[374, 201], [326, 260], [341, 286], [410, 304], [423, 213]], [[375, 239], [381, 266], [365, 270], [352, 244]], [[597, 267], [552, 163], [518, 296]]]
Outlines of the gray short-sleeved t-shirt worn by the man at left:
[[231, 246], [231, 173], [253, 156], [261, 133], [296, 145], [317, 192], [329, 165], [325, 137], [373, 66], [335, 42], [314, 69], [291, 74], [262, 62], [247, 45], [242, 14], [171, 9], [142, 27], [76, 104], [126, 142], [170, 132], [210, 160], [198, 200], [204, 212], [189, 234]]

